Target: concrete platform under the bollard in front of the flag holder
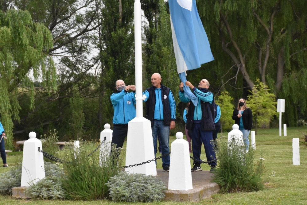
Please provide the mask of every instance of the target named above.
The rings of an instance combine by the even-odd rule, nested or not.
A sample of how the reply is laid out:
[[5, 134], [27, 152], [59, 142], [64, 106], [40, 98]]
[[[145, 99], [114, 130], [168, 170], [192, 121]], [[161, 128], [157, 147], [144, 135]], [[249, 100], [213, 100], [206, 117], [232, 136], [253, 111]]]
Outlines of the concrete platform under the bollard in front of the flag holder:
[[[157, 169], [157, 177], [169, 184], [169, 172]], [[220, 186], [212, 181], [213, 174], [209, 171], [192, 172], [193, 189], [188, 191], [166, 190], [164, 201], [193, 202], [205, 199], [220, 191]]]

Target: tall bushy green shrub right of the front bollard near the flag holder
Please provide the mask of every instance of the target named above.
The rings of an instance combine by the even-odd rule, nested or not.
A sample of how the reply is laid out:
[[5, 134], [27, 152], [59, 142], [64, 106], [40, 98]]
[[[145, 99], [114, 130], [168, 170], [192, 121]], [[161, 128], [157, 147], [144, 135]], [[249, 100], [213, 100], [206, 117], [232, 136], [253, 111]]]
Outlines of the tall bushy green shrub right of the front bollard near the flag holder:
[[265, 170], [262, 157], [255, 164], [255, 151], [245, 152], [245, 145], [233, 141], [217, 141], [218, 166], [213, 172], [214, 182], [221, 186], [221, 192], [258, 191], [264, 188], [262, 174]]

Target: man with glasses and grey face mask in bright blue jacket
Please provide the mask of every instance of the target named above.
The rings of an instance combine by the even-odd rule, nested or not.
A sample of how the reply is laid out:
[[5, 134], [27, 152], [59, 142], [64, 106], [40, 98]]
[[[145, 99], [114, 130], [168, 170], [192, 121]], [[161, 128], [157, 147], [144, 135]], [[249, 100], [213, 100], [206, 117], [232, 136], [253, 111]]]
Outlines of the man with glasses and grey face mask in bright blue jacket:
[[[112, 144], [116, 144], [116, 148], [121, 148], [128, 133], [128, 122], [136, 116], [135, 85], [126, 86], [125, 82], [119, 79], [115, 83], [115, 88], [117, 93], [110, 96], [114, 109]], [[128, 92], [129, 90], [133, 92]]]

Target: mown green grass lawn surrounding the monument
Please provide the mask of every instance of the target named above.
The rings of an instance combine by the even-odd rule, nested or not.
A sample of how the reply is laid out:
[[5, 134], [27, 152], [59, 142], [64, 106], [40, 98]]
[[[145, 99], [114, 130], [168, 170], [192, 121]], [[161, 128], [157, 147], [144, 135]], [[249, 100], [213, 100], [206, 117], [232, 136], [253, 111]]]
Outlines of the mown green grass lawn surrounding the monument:
[[[307, 127], [287, 128], [286, 137], [279, 136], [279, 129], [258, 129], [256, 134], [256, 152], [255, 156], [260, 157], [261, 154], [265, 159], [266, 188], [263, 191], [249, 193], [229, 193], [215, 194], [209, 199], [203, 199], [199, 202], [184, 204], [307, 204], [307, 146], [300, 144], [300, 165], [294, 166], [292, 162], [292, 138], [303, 137], [302, 131], [307, 132]], [[253, 130], [252, 130], [253, 131]], [[282, 132], [283, 133], [283, 132]], [[227, 138], [227, 133], [220, 136]], [[170, 137], [170, 143], [176, 139], [175, 136]], [[302, 141], [300, 139], [300, 141]], [[125, 148], [126, 142], [124, 144]], [[161, 156], [157, 154], [156, 157]], [[201, 159], [205, 159], [204, 148], [202, 150]], [[22, 160], [22, 152], [9, 153], [7, 163], [10, 167], [14, 166]], [[192, 164], [192, 161], [191, 161]], [[0, 168], [0, 174], [10, 169]], [[162, 168], [162, 161], [157, 161], [157, 168]], [[207, 164], [202, 165], [203, 170], [209, 170]], [[273, 174], [275, 176], [273, 176]], [[10, 196], [0, 195], [0, 204], [115, 204], [109, 200], [101, 201], [46, 201], [46, 200], [17, 200]], [[124, 203], [121, 203], [124, 204]], [[142, 204], [142, 203], [139, 203]], [[153, 204], [183, 204], [178, 202], [157, 202]]]

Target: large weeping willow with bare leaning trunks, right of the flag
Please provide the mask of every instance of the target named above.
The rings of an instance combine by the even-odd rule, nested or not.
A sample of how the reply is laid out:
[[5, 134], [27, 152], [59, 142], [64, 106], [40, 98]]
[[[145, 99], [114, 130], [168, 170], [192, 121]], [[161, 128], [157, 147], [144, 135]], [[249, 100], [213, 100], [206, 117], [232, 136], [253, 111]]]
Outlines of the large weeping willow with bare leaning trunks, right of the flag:
[[[218, 64], [217, 77], [233, 78], [225, 89], [234, 95], [243, 87], [251, 91], [259, 78], [276, 98], [286, 99], [284, 119], [295, 126], [297, 110], [307, 114], [307, 93], [301, 92], [307, 80], [307, 1], [196, 2]], [[245, 90], [242, 97], [247, 94]]]

